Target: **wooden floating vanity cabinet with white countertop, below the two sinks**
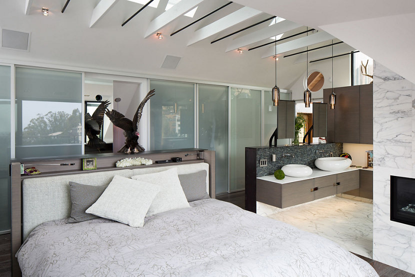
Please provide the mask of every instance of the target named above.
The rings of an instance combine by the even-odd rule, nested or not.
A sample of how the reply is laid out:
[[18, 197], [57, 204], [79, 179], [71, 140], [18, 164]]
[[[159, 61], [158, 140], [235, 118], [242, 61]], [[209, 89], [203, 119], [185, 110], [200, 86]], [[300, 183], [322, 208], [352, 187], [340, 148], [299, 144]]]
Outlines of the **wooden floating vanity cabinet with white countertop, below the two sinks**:
[[256, 200], [279, 208], [285, 208], [326, 196], [358, 189], [360, 169], [347, 167], [338, 171], [312, 168], [306, 177], [285, 176], [277, 180], [273, 175], [256, 178]]

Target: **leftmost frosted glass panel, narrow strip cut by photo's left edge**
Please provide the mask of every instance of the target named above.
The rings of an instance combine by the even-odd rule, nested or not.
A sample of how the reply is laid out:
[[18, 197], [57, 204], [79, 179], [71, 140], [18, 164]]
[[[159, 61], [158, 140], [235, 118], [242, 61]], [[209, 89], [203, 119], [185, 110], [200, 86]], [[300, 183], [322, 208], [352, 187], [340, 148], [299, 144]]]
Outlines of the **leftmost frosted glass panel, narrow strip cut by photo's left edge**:
[[0, 65], [0, 234], [10, 230], [10, 66]]

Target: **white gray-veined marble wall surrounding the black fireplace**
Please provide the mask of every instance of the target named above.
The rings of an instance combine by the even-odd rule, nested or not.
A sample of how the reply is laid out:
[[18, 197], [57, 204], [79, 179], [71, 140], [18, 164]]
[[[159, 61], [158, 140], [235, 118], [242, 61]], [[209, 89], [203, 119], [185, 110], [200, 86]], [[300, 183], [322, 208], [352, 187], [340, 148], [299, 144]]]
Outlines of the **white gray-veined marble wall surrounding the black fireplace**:
[[415, 226], [390, 221], [390, 175], [415, 177], [415, 84], [373, 67], [373, 259], [415, 273]]

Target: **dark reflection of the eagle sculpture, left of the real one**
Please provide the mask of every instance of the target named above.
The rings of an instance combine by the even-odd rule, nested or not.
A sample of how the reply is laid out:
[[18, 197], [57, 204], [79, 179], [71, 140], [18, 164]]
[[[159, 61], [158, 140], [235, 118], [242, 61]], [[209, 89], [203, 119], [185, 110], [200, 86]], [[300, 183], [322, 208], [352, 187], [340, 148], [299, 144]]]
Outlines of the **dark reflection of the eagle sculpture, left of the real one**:
[[98, 135], [101, 133], [103, 116], [109, 104], [108, 100], [101, 102], [92, 113], [92, 116], [88, 112], [85, 113], [85, 134], [89, 139], [86, 145], [96, 148], [98, 151], [105, 144], [105, 141], [100, 139]]

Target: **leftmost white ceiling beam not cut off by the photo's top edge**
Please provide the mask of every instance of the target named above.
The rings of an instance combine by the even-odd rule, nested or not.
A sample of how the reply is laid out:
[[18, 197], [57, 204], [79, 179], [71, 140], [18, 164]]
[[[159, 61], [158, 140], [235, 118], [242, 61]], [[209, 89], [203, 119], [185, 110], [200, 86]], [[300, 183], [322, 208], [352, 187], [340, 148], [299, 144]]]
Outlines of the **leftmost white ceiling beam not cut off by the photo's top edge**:
[[244, 6], [198, 30], [196, 30], [187, 46], [194, 44], [202, 39], [205, 39], [215, 33], [218, 33], [224, 29], [234, 26], [240, 22], [243, 22], [255, 15], [262, 13], [262, 11], [253, 9], [251, 7]]

